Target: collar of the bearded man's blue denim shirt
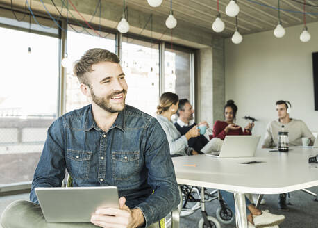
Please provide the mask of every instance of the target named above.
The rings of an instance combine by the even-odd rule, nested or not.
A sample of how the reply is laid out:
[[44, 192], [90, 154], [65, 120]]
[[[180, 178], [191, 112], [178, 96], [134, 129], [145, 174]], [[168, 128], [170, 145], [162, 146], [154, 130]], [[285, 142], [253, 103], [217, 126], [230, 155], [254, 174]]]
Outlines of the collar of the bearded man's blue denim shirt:
[[[118, 129], [121, 129], [122, 131], [124, 131], [125, 129], [125, 111], [126, 111], [126, 106], [124, 108], [123, 111], [120, 111], [116, 117], [115, 122], [112, 124], [112, 127], [110, 127], [110, 129], [113, 129], [115, 127], [117, 127]], [[94, 120], [94, 116], [92, 113], [92, 105], [90, 104], [89, 108], [88, 108], [88, 113], [87, 116], [85, 118], [85, 125], [84, 125], [84, 131], [90, 131], [90, 129], [95, 129], [97, 131], [100, 131], [101, 129], [99, 129], [99, 127], [97, 126], [95, 120]]]

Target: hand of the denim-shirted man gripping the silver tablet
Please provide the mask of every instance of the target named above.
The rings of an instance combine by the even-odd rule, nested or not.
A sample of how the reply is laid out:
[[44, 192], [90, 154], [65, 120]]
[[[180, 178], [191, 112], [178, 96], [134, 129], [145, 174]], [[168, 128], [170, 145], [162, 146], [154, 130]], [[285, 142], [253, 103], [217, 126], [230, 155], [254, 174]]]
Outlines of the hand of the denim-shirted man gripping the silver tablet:
[[135, 228], [144, 225], [144, 215], [140, 209], [129, 209], [126, 198], [119, 198], [119, 209], [99, 208], [90, 218], [90, 222], [103, 228]]

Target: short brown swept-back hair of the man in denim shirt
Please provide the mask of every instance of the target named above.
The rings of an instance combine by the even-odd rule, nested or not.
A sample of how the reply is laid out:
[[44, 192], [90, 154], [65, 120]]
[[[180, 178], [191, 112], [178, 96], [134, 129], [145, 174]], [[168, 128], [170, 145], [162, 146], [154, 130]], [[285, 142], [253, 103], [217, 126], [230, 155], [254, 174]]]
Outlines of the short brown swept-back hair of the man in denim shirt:
[[106, 49], [90, 49], [85, 52], [80, 60], [76, 61], [73, 67], [74, 75], [77, 76], [80, 83], [90, 86], [90, 82], [88, 81], [87, 76], [85, 76], [85, 73], [93, 72], [92, 65], [101, 62], [119, 63], [119, 58], [116, 54], [113, 54]]

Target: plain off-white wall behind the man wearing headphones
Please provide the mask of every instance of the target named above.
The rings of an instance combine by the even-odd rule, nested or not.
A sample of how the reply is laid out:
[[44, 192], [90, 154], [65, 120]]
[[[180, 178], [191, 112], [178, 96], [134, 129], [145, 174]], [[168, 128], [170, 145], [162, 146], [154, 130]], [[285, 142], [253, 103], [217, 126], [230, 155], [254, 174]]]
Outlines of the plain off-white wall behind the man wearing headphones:
[[[265, 134], [267, 123], [277, 119], [279, 99], [292, 104], [290, 117], [303, 120], [318, 131], [312, 76], [312, 52], [318, 51], [318, 22], [308, 24], [311, 40], [299, 40], [303, 26], [286, 28], [278, 39], [273, 31], [244, 35], [241, 44], [225, 41], [226, 100], [238, 106], [237, 123], [246, 125], [244, 115], [259, 121], [253, 134]], [[243, 127], [243, 126], [242, 126]]]

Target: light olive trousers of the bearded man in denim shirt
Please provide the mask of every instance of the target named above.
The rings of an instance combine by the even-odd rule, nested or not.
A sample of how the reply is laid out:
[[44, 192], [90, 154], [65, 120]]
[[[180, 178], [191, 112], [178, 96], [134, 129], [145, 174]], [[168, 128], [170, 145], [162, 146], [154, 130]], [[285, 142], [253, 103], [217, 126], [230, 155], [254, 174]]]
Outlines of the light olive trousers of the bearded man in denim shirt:
[[[97, 228], [90, 222], [47, 223], [40, 205], [26, 200], [18, 200], [7, 206], [1, 215], [1, 225], [3, 228]], [[149, 226], [158, 227], [158, 222]]]

